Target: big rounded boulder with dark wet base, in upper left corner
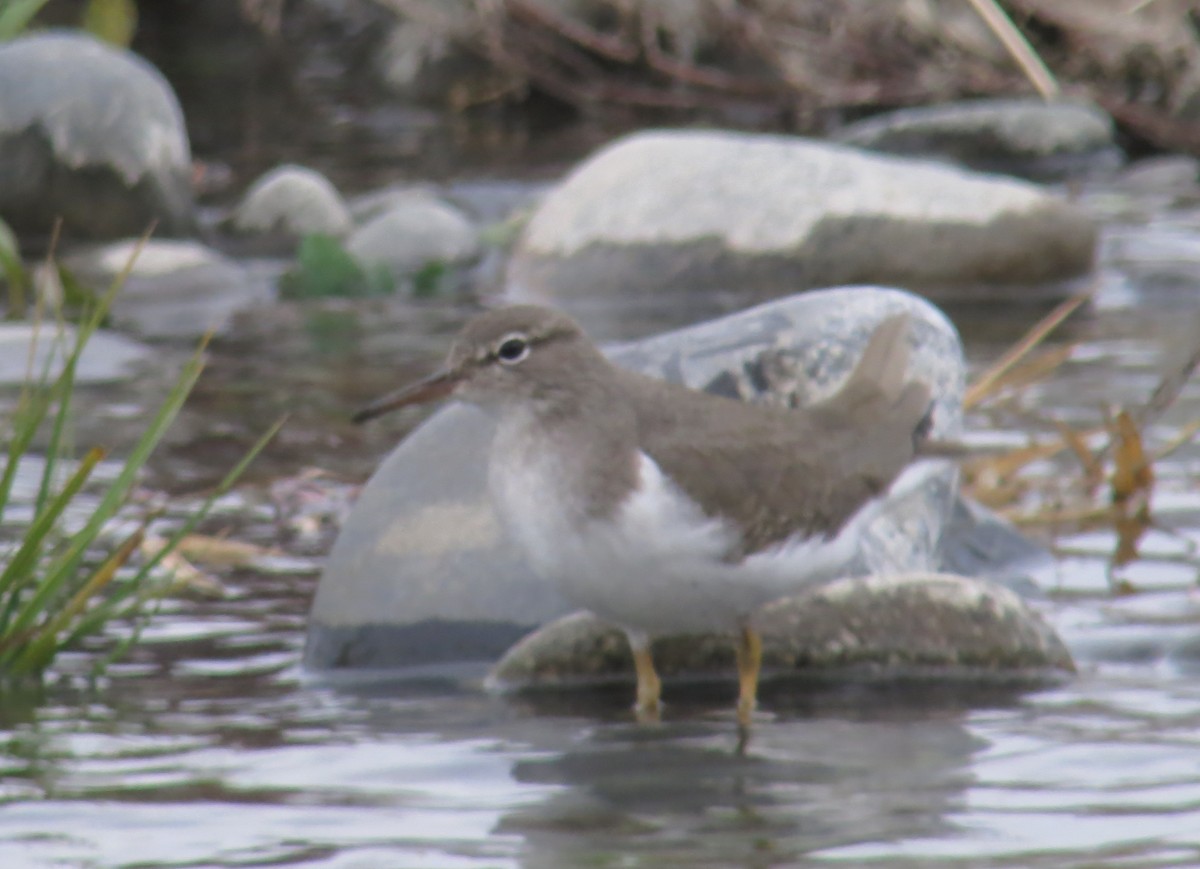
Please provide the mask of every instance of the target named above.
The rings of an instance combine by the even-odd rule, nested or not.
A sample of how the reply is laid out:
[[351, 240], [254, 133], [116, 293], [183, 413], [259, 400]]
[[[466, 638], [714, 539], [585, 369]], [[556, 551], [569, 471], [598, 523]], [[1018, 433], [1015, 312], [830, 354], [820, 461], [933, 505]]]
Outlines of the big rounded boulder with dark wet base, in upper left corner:
[[110, 239], [193, 226], [179, 102], [137, 55], [78, 32], [0, 44], [0, 216], [18, 234]]

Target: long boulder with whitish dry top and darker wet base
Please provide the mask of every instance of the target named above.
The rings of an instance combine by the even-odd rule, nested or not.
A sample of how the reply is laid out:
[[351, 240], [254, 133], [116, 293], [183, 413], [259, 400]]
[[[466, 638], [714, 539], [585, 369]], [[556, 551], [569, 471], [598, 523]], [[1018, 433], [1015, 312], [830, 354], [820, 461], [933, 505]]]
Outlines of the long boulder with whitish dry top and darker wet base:
[[1024, 181], [784, 136], [637, 133], [541, 202], [510, 264], [562, 299], [839, 283], [919, 292], [1052, 282], [1092, 265], [1096, 227]]

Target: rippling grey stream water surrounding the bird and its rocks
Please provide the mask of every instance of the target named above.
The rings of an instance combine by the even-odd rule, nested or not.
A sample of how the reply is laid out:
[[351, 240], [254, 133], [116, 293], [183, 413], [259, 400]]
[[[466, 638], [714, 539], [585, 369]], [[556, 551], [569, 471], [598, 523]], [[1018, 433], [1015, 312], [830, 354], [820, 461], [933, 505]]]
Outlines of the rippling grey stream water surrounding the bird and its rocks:
[[[1097, 304], [1063, 335], [1080, 350], [1026, 394], [1020, 422], [973, 414], [983, 436], [1144, 401], [1200, 332], [1200, 211], [1156, 203], [1147, 220], [1112, 197], [1085, 191], [1108, 228]], [[312, 483], [319, 514], [395, 433], [352, 428], [347, 410], [432, 364], [474, 307], [281, 305], [245, 318], [214, 346], [156, 481], [211, 480], [287, 409], [293, 422], [244, 497], [294, 508], [302, 492], [266, 484], [320, 467], [332, 477]], [[1032, 319], [1020, 305], [950, 311], [977, 367]], [[80, 416], [136, 422], [131, 408], [166, 379], [91, 394]], [[1196, 416], [1192, 384], [1156, 443]], [[1044, 462], [1040, 479], [1078, 477], [1069, 463]], [[44, 688], [0, 695], [0, 865], [1196, 867], [1198, 471], [1190, 445], [1157, 466], [1157, 525], [1129, 565], [1110, 570], [1109, 529], [1057, 534], [1042, 606], [1076, 678], [1026, 693], [764, 685], [744, 754], [731, 685], [668, 687], [666, 723], [638, 726], [624, 693], [497, 697], [479, 673], [313, 679], [296, 663], [329, 522], [218, 517], [210, 531], [276, 543], [310, 569], [235, 571], [226, 599], [170, 601], [100, 684], [79, 655]], [[1116, 581], [1135, 593], [1114, 594]]]

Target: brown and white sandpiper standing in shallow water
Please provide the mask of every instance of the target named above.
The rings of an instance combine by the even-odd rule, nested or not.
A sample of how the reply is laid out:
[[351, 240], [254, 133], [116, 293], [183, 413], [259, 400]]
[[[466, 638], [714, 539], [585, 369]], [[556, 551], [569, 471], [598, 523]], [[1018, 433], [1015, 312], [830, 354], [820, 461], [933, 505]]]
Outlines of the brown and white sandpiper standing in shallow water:
[[907, 313], [886, 317], [835, 392], [781, 408], [618, 367], [568, 314], [514, 305], [475, 316], [438, 371], [354, 420], [442, 398], [491, 414], [493, 508], [536, 574], [624, 630], [637, 717], [661, 709], [653, 639], [725, 631], [749, 726], [756, 611], [845, 575], [928, 436], [910, 332]]

